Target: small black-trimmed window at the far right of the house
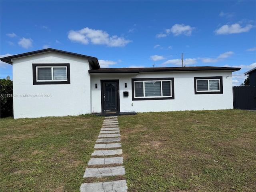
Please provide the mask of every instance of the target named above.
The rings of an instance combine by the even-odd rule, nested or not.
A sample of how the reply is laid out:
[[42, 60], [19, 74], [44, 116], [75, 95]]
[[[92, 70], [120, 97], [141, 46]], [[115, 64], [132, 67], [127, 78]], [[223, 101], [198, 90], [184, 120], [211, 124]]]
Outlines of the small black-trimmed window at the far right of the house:
[[222, 94], [222, 77], [195, 77], [195, 94]]

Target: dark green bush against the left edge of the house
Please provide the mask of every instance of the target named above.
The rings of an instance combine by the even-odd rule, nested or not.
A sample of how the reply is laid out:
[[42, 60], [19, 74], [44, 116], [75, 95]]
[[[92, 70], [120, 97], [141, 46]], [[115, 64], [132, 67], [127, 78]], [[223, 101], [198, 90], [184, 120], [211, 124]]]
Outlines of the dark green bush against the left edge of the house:
[[0, 79], [1, 118], [13, 116], [12, 80]]

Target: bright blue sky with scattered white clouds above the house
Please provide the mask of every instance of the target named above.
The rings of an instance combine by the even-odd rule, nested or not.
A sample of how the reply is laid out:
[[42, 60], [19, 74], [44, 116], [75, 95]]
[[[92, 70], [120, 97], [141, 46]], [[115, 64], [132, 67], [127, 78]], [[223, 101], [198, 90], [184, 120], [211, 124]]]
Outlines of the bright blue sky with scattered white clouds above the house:
[[[102, 68], [256, 67], [256, 1], [0, 1], [1, 57], [54, 48]], [[0, 78], [12, 65], [1, 62]], [[24, 74], [26, 75], [26, 74]]]

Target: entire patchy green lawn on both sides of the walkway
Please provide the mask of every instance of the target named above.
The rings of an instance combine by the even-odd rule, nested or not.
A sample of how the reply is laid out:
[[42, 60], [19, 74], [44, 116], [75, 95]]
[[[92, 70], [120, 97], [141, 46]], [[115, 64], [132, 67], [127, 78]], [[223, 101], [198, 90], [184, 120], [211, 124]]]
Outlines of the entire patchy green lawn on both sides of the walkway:
[[[130, 192], [256, 191], [256, 112], [118, 116]], [[102, 126], [92, 115], [1, 119], [3, 192], [78, 192]]]

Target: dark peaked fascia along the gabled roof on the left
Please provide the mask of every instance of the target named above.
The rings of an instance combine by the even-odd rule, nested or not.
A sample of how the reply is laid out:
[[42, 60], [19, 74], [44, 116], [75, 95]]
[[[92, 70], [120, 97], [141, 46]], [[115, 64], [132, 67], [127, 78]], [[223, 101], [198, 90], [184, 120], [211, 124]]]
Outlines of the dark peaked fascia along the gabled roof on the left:
[[20, 58], [20, 57], [26, 57], [26, 56], [40, 54], [40, 53], [45, 53], [45, 52], [57, 52], [57, 53], [62, 53], [62, 54], [66, 54], [66, 55], [72, 55], [72, 56], [86, 58], [89, 61], [93, 61], [92, 62], [92, 63], [94, 63], [94, 66], [92, 66], [93, 68], [100, 69], [100, 64], [98, 62], [98, 58], [96, 58], [96, 57], [86, 56], [86, 55], [82, 55], [82, 54], [77, 54], [77, 53], [52, 49], [52, 48], [42, 49], [42, 50], [37, 50], [37, 51], [32, 51], [32, 52], [27, 52], [27, 53], [22, 53], [22, 54], [17, 54], [17, 55], [4, 57], [4, 58], [1, 58], [1, 61], [12, 65], [12, 61], [11, 61], [12, 59]]

